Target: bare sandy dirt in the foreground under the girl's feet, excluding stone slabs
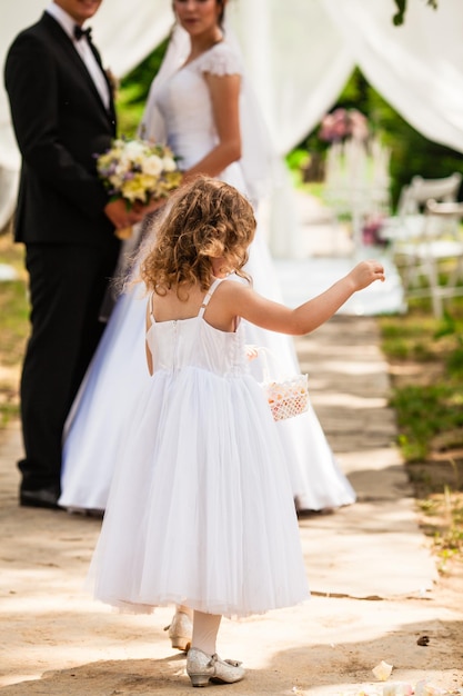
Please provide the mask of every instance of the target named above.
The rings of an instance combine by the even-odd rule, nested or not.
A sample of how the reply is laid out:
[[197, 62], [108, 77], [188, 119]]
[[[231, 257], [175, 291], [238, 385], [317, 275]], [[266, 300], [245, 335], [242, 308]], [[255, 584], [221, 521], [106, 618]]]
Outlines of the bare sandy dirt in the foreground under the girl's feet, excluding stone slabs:
[[[3, 455], [17, 440], [10, 432]], [[2, 466], [0, 477], [0, 694], [191, 693], [184, 656], [171, 649], [163, 632], [170, 609], [152, 616], [120, 615], [84, 591], [100, 520], [21, 509], [13, 467]], [[301, 518], [302, 539], [325, 520], [333, 525], [339, 519], [342, 528], [354, 507]], [[310, 556], [309, 577], [316, 564]], [[360, 550], [359, 574], [365, 561]], [[243, 659], [248, 673], [240, 684], [215, 688], [246, 695], [381, 695], [382, 684], [371, 670], [385, 660], [394, 666], [387, 683], [415, 686], [424, 679], [461, 694], [462, 596], [463, 568], [453, 568], [452, 577], [417, 595], [365, 600], [314, 593], [302, 607], [239, 623], [224, 620], [221, 653]], [[426, 645], [419, 645], [426, 638]]]

